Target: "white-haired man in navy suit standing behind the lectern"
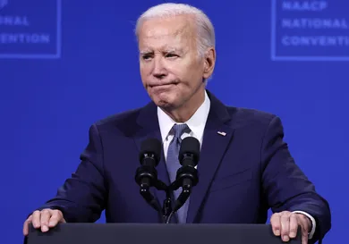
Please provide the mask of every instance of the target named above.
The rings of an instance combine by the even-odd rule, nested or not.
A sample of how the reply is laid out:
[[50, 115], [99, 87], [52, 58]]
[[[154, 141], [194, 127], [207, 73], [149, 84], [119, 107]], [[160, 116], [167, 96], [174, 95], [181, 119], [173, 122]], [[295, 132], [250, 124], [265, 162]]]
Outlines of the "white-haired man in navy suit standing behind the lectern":
[[[140, 16], [136, 34], [140, 75], [152, 102], [90, 127], [81, 164], [55, 198], [25, 221], [48, 231], [57, 223], [158, 223], [139, 194], [134, 173], [144, 139], [163, 143], [158, 178], [174, 179], [176, 142], [200, 141], [200, 182], [175, 216], [177, 223], [265, 223], [282, 240], [302, 227], [302, 243], [323, 238], [331, 227], [328, 202], [294, 164], [280, 119], [223, 105], [206, 89], [216, 63], [209, 18], [184, 4], [160, 4]], [[181, 131], [180, 131], [181, 130]], [[165, 195], [157, 192], [162, 203]]]

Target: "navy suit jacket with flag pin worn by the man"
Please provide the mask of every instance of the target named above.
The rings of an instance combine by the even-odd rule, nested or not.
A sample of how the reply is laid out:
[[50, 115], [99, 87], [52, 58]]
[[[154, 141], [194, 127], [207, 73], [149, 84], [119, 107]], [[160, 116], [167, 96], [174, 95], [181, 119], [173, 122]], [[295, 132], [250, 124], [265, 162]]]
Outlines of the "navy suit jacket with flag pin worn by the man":
[[[316, 219], [313, 240], [318, 240], [330, 229], [328, 202], [294, 164], [280, 119], [223, 105], [208, 94], [200, 182], [192, 191], [187, 223], [266, 223], [269, 207], [274, 212], [302, 210]], [[159, 223], [134, 181], [140, 143], [147, 138], [161, 141], [153, 103], [93, 124], [77, 171], [39, 209], [60, 209], [67, 222], [95, 222], [106, 209], [108, 223]], [[168, 184], [164, 156], [157, 171]], [[162, 204], [165, 193], [153, 192]]]

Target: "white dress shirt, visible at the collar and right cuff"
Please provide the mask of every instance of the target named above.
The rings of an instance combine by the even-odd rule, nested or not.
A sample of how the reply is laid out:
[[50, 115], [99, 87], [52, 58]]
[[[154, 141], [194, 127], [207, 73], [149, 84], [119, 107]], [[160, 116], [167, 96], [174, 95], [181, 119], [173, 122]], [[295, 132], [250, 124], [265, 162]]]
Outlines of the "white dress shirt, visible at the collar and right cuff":
[[[199, 140], [200, 147], [201, 147], [203, 132], [209, 117], [209, 107], [210, 107], [209, 96], [205, 92], [205, 100], [202, 103], [202, 105], [200, 105], [200, 107], [195, 112], [195, 114], [193, 114], [192, 117], [187, 122], [183, 122], [188, 125], [191, 131], [189, 133], [183, 133], [181, 137], [182, 139], [186, 137], [194, 137]], [[174, 123], [178, 123], [178, 122], [174, 122], [174, 120], [170, 116], [168, 116], [164, 111], [162, 111], [159, 107], [157, 107], [157, 118], [158, 118], [158, 123], [160, 127], [160, 132], [161, 132], [161, 139], [164, 147], [164, 155], [165, 155], [165, 158], [167, 158], [167, 149], [171, 140], [174, 137], [173, 135], [169, 134], [169, 132], [174, 126]], [[316, 229], [315, 219], [311, 215], [303, 211], [294, 211], [293, 213], [306, 215], [311, 219], [312, 229], [311, 229], [311, 232], [309, 233], [309, 239], [311, 239]]]

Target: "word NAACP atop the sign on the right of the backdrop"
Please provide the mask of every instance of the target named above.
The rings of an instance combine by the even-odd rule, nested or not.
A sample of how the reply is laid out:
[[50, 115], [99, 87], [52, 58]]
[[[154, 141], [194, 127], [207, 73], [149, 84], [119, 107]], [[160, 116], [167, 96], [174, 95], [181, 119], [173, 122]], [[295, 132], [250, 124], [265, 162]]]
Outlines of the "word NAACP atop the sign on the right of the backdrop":
[[282, 9], [285, 11], [314, 11], [320, 12], [328, 7], [327, 1], [285, 1]]

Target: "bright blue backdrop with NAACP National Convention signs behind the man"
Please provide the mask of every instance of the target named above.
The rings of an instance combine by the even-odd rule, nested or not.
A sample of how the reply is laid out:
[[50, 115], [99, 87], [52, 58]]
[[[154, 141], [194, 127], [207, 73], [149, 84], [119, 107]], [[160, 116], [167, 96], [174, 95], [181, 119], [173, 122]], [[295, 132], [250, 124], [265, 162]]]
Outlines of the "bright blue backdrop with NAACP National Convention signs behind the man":
[[[79, 164], [91, 123], [149, 101], [133, 29], [163, 2], [0, 0], [0, 243], [21, 243], [25, 217]], [[296, 162], [331, 206], [325, 243], [345, 243], [349, 3], [180, 2], [216, 27], [208, 88], [281, 117]]]

